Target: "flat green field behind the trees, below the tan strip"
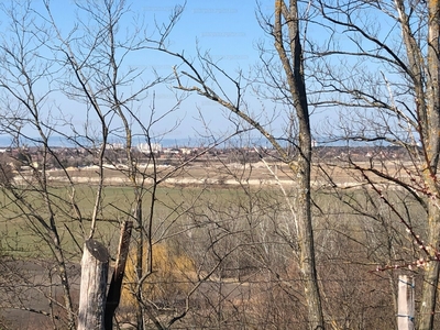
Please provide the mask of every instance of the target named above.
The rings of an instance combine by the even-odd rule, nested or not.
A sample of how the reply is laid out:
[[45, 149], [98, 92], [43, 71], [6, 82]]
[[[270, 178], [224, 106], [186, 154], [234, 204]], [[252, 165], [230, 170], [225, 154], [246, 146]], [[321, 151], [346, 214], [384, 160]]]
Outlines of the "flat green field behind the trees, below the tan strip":
[[[237, 217], [237, 222], [249, 221], [249, 218], [268, 217], [275, 210], [287, 212], [285, 197], [276, 186], [246, 187], [241, 189], [237, 186], [206, 185], [206, 186], [158, 186], [155, 191], [153, 215], [152, 187], [142, 191], [143, 195], [143, 221], [144, 228], [148, 226], [152, 218], [152, 233], [154, 240], [161, 241], [178, 232], [185, 231], [194, 221], [217, 221], [216, 218], [230, 219]], [[293, 191], [294, 194], [294, 191]], [[316, 191], [315, 219], [317, 230], [321, 228], [322, 221], [346, 222], [349, 227], [362, 221], [362, 217], [353, 215], [349, 204], [364, 211], [375, 212], [377, 207], [372, 200], [377, 196], [370, 191], [352, 189], [341, 193], [339, 198], [331, 190], [320, 189]], [[81, 215], [81, 222], [75, 216], [72, 207], [72, 190], [61, 184], [53, 185], [48, 191], [51, 207], [55, 215], [54, 220], [59, 232], [63, 248], [72, 253], [73, 257], [79, 260], [85, 235], [88, 235], [91, 215], [96, 202], [97, 187], [92, 185], [78, 184], [75, 186], [75, 200]], [[372, 197], [370, 197], [372, 196]], [[417, 218], [420, 215], [420, 206], [403, 193], [389, 193], [397, 209], [407, 218]], [[44, 202], [44, 195], [34, 190], [20, 191], [20, 198], [30, 201], [31, 207], [23, 207], [10, 193], [0, 193], [1, 218], [0, 218], [0, 251], [2, 254], [21, 257], [46, 257], [50, 255], [47, 244], [42, 241], [45, 229], [30, 213], [42, 217], [48, 222], [48, 211]], [[380, 201], [378, 201], [380, 204]], [[22, 207], [22, 209], [19, 208]], [[98, 212], [97, 231], [95, 238], [109, 245], [110, 250], [119, 240], [120, 223], [131, 219], [134, 209], [134, 190], [129, 186], [106, 186], [102, 194], [101, 207]], [[32, 210], [32, 212], [31, 212]], [[388, 216], [389, 210], [384, 208]], [[406, 212], [406, 213], [405, 213]], [[341, 216], [345, 215], [345, 216]], [[211, 219], [208, 219], [211, 218]], [[339, 220], [337, 220], [339, 219]], [[252, 220], [254, 221], [254, 220]], [[82, 233], [84, 228], [85, 233]], [[42, 234], [43, 233], [43, 234]]]

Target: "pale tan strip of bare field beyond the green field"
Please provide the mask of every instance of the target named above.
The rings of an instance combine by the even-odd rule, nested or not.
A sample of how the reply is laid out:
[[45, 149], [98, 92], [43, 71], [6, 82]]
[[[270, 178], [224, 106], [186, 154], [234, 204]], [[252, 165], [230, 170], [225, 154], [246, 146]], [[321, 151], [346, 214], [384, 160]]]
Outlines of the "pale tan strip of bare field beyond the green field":
[[[356, 165], [364, 168], [369, 177], [376, 182], [383, 182], [373, 173], [378, 170], [386, 175], [408, 180], [410, 176], [417, 176], [414, 166], [410, 163], [386, 162], [380, 164], [371, 164], [370, 162], [359, 162]], [[67, 173], [75, 183], [99, 184], [98, 167], [82, 167], [67, 169]], [[282, 163], [253, 163], [224, 164], [220, 162], [197, 163], [185, 167], [158, 165], [139, 166], [140, 176], [145, 178], [146, 184], [153, 184], [158, 180], [167, 185], [242, 185], [249, 184], [253, 186], [295, 185], [300, 174], [293, 173], [288, 165]], [[67, 177], [62, 170], [48, 172], [52, 182], [67, 182]], [[322, 163], [312, 165], [311, 185], [314, 187], [326, 186], [343, 186], [356, 187], [364, 182], [363, 175], [359, 168], [349, 166], [344, 163]], [[108, 185], [127, 186], [130, 185], [128, 169], [106, 165], [105, 183]]]

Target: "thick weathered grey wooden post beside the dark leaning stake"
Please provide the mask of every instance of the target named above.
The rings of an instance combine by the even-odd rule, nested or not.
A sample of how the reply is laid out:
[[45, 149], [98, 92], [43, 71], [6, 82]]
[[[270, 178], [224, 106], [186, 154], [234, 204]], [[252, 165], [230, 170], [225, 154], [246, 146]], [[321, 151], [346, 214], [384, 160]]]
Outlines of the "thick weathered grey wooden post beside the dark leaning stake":
[[103, 330], [109, 252], [90, 239], [86, 241], [81, 260], [78, 330]]

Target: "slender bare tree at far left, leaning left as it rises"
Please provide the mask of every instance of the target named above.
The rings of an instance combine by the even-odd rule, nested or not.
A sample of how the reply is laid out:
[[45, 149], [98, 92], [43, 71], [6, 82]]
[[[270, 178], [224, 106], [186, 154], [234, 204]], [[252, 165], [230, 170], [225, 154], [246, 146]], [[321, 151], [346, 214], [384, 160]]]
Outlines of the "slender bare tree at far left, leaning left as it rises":
[[[37, 134], [33, 141], [38, 145], [35, 148], [38, 160], [25, 157], [21, 165], [25, 165], [29, 170], [21, 172], [20, 176], [7, 185], [3, 191], [9, 200], [8, 205], [13, 205], [21, 217], [29, 221], [29, 226], [38, 234], [40, 240], [47, 244], [63, 287], [64, 304], [61, 306], [67, 315], [65, 327], [75, 329], [75, 307], [67, 275], [67, 260], [57, 222], [57, 213], [61, 209], [56, 201], [59, 199], [50, 189], [46, 170], [47, 158], [54, 156], [48, 145], [52, 118], [42, 111], [50, 91], [41, 92], [36, 88], [36, 85], [42, 82], [51, 86], [53, 75], [57, 72], [51, 66], [53, 64], [51, 61], [42, 62], [37, 56], [38, 51], [48, 46], [51, 34], [44, 23], [33, 16], [30, 2], [25, 2], [23, 8], [15, 6], [3, 8], [3, 12], [11, 22], [9, 28], [11, 38], [4, 38], [1, 46], [3, 65], [0, 79], [4, 110], [2, 131], [15, 139], [15, 146], [19, 146], [23, 139], [21, 129], [31, 127]], [[38, 32], [40, 38], [34, 38], [33, 31]], [[32, 188], [23, 190], [20, 186]], [[38, 204], [33, 202], [33, 196], [38, 196]], [[75, 200], [68, 204], [76, 206]], [[13, 213], [11, 216], [16, 217]], [[56, 301], [56, 304], [59, 302]]]

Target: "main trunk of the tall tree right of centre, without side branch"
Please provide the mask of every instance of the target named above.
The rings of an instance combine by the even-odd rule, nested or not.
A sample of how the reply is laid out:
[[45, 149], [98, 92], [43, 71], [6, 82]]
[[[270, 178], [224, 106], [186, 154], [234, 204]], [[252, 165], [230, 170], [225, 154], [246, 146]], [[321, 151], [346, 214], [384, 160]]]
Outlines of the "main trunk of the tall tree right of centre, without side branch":
[[[299, 248], [299, 267], [305, 282], [304, 290], [307, 300], [309, 328], [324, 329], [321, 298], [318, 286], [318, 276], [315, 263], [314, 228], [311, 222], [311, 132], [310, 114], [308, 110], [307, 91], [304, 78], [302, 47], [299, 36], [298, 3], [289, 1], [289, 7], [284, 1], [275, 1], [274, 37], [275, 48], [283, 64], [286, 79], [289, 86], [295, 113], [298, 119], [298, 164], [293, 162], [289, 167], [298, 178], [297, 204], [297, 237]], [[289, 52], [284, 45], [283, 23], [288, 29]]]

